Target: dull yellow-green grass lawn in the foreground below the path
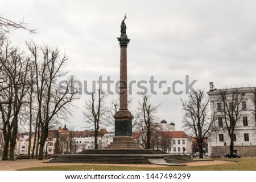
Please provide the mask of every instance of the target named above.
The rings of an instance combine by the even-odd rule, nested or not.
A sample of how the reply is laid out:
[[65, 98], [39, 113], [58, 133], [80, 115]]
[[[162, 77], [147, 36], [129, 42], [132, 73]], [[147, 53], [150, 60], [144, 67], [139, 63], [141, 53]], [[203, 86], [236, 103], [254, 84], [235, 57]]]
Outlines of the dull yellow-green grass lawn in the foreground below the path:
[[[22, 169], [23, 171], [255, 171], [256, 158], [216, 159], [237, 161], [230, 164], [184, 167], [131, 167], [131, 166], [46, 166]], [[57, 164], [56, 164], [57, 165]]]

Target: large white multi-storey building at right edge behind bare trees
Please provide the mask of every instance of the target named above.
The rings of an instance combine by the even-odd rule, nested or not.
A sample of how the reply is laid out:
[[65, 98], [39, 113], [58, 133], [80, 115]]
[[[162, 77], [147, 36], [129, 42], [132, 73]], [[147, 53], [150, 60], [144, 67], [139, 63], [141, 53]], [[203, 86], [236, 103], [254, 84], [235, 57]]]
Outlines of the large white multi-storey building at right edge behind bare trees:
[[[228, 107], [232, 107], [232, 90], [237, 90], [240, 94], [240, 105], [238, 105], [239, 115], [236, 128], [234, 130], [234, 153], [242, 156], [256, 156], [256, 130], [255, 130], [255, 105], [252, 99], [255, 87], [214, 89], [210, 83], [210, 91], [207, 92], [210, 98], [210, 111], [216, 118], [209, 136], [209, 147], [212, 154], [224, 156], [229, 153], [230, 137], [226, 130], [224, 117], [224, 103], [221, 101], [220, 93], [227, 91]], [[234, 101], [234, 100], [233, 100]], [[229, 109], [229, 108], [227, 108]], [[227, 111], [226, 109], [226, 111]], [[230, 109], [231, 110], [231, 109]], [[229, 110], [229, 111], [230, 111]]]

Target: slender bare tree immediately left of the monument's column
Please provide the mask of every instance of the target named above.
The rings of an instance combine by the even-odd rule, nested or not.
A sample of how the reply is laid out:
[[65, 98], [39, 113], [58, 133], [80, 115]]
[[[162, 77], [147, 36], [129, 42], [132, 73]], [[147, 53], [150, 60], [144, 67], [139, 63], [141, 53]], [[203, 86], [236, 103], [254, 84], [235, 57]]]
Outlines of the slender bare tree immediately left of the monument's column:
[[89, 124], [89, 128], [94, 130], [94, 149], [98, 149], [100, 127], [105, 125], [104, 122], [109, 112], [105, 103], [106, 95], [102, 95], [101, 90], [98, 90], [97, 95], [96, 98], [95, 93], [92, 93], [92, 98], [86, 101], [86, 111], [83, 112], [85, 122]]

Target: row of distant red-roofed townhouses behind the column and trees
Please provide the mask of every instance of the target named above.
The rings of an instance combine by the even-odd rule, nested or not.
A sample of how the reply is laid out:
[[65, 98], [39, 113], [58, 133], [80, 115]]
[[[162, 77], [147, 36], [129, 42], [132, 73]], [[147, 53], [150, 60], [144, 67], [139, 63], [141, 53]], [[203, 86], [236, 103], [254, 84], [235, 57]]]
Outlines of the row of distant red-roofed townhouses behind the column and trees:
[[[164, 134], [164, 137], [169, 138], [167, 143], [166, 152], [170, 154], [191, 154], [191, 137], [187, 136], [182, 131], [175, 131], [175, 124], [171, 122], [167, 124], [166, 120], [162, 120], [159, 124], [161, 128], [161, 132]], [[44, 146], [44, 153], [53, 154], [55, 149], [55, 143], [57, 139], [57, 134], [59, 134], [59, 139], [61, 143], [61, 151], [63, 154], [68, 153], [80, 153], [82, 150], [86, 149], [94, 149], [94, 136], [93, 132], [86, 131], [76, 131], [71, 132], [64, 126], [64, 128], [59, 127], [57, 130], [50, 130], [48, 133], [48, 138], [46, 140], [46, 145]], [[31, 146], [34, 145], [34, 134], [31, 137]], [[72, 137], [73, 148], [70, 152], [70, 148], [68, 146], [68, 137]], [[133, 137], [135, 141], [140, 143], [141, 133], [133, 132]], [[104, 149], [106, 146], [113, 142], [114, 133], [107, 132], [106, 129], [100, 130], [100, 135], [98, 137], [98, 145], [100, 149]], [[28, 133], [18, 134], [17, 142], [16, 142], [16, 154], [27, 154], [28, 153], [28, 142], [29, 136]], [[160, 148], [159, 148], [160, 149]], [[0, 149], [1, 150], [1, 149]], [[161, 150], [161, 149], [160, 149]], [[32, 153], [32, 148], [31, 148]]]

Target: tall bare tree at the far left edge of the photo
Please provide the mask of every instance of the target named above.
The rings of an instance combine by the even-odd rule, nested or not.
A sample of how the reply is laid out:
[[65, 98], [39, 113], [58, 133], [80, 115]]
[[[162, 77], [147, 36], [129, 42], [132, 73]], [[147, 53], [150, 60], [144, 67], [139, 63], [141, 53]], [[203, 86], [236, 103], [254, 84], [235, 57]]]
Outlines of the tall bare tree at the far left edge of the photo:
[[16, 136], [18, 133], [18, 120], [23, 105], [24, 96], [27, 93], [28, 60], [18, 48], [10, 48], [7, 43], [5, 56], [1, 57], [3, 75], [6, 78], [1, 90], [0, 111], [3, 121], [3, 147], [2, 160], [8, 159], [8, 147], [10, 143], [10, 160], [14, 160]]

